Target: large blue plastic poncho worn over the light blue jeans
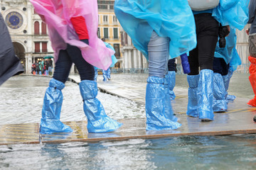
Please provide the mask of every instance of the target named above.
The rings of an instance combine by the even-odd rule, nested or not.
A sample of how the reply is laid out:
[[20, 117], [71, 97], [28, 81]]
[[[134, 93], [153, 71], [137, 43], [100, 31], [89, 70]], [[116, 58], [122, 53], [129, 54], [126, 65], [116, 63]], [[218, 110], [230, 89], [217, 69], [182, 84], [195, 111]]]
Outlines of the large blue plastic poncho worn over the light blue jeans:
[[133, 45], [148, 59], [153, 30], [169, 37], [169, 54], [178, 57], [196, 47], [196, 26], [187, 0], [116, 0], [114, 13]]

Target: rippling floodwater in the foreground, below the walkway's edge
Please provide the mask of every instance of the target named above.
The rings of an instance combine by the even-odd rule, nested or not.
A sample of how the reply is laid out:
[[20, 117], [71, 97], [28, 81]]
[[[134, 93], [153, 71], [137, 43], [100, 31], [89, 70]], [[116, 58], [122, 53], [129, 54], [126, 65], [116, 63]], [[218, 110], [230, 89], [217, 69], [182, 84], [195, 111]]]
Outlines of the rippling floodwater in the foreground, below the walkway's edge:
[[0, 146], [0, 169], [256, 169], [256, 135]]

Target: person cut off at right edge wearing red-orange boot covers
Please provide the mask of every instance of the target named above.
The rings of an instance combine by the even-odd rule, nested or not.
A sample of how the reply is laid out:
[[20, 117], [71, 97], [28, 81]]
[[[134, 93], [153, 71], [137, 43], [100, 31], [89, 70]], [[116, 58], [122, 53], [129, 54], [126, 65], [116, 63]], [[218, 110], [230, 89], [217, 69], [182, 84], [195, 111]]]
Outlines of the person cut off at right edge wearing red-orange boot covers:
[[256, 0], [250, 0], [249, 4], [249, 21], [251, 24], [250, 29], [247, 30], [249, 35], [249, 54], [250, 61], [250, 84], [252, 85], [255, 97], [248, 101], [248, 105], [256, 107]]

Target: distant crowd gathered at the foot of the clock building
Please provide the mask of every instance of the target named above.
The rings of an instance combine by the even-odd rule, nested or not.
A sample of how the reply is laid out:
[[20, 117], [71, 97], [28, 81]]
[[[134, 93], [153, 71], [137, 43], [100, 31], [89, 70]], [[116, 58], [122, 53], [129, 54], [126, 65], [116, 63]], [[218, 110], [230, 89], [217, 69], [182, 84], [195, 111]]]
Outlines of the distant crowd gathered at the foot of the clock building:
[[38, 74], [43, 76], [51, 76], [53, 74], [53, 60], [43, 59], [43, 60], [36, 60], [32, 64], [31, 74]]

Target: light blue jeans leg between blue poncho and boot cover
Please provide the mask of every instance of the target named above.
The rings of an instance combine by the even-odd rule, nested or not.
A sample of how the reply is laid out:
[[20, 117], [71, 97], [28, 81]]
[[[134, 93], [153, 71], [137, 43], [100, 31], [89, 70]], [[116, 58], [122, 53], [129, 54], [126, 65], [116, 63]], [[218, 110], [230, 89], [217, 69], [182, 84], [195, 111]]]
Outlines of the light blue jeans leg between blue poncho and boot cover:
[[149, 77], [164, 78], [168, 72], [170, 38], [152, 32], [149, 45]]

